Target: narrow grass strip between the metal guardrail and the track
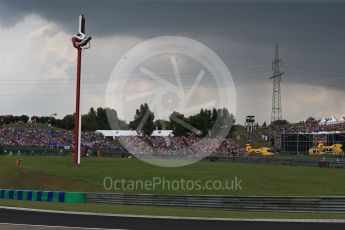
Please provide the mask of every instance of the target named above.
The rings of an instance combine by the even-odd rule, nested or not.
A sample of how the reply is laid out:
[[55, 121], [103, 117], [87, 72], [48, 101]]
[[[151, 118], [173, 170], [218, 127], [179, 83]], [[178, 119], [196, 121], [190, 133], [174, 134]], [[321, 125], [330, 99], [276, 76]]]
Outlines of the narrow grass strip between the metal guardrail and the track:
[[157, 216], [181, 216], [181, 217], [209, 217], [209, 218], [288, 218], [288, 219], [344, 219], [343, 214], [325, 213], [291, 213], [291, 212], [240, 212], [217, 211], [201, 209], [182, 209], [166, 207], [148, 207], [137, 205], [116, 204], [61, 204], [34, 201], [0, 200], [0, 206], [23, 207], [32, 209], [94, 212], [130, 215], [157, 215]]

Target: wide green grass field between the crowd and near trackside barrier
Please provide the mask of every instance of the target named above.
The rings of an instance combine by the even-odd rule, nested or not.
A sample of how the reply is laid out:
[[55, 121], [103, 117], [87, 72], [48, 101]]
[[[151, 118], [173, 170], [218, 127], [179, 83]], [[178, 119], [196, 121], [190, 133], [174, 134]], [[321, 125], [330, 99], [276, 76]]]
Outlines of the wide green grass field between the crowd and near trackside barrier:
[[[89, 158], [74, 167], [71, 157], [0, 157], [0, 188], [209, 195], [345, 195], [345, 170], [317, 167], [201, 161], [179, 168], [161, 168], [137, 159]], [[105, 177], [126, 180], [242, 180], [243, 190], [177, 191], [103, 188]]]

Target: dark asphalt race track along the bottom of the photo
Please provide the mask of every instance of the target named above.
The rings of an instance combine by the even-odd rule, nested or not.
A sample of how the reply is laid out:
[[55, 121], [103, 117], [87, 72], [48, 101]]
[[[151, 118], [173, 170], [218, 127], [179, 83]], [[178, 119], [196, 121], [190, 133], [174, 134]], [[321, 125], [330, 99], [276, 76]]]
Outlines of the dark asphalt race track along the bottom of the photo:
[[345, 229], [344, 223], [207, 220], [192, 218], [159, 218], [64, 214], [44, 211], [0, 208], [0, 229], [140, 229], [140, 230], [201, 230], [201, 229]]

